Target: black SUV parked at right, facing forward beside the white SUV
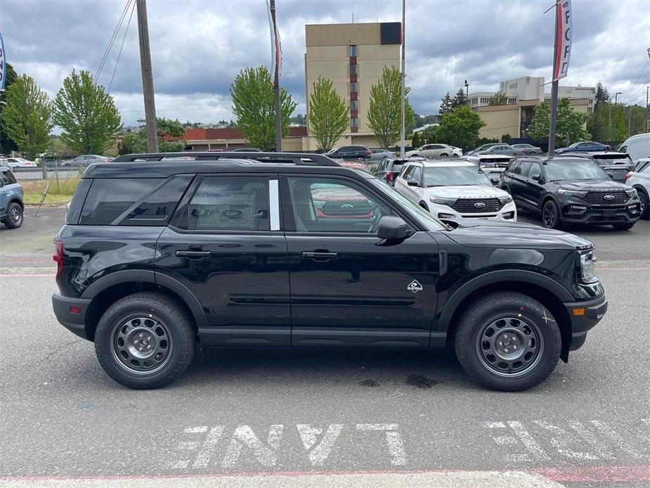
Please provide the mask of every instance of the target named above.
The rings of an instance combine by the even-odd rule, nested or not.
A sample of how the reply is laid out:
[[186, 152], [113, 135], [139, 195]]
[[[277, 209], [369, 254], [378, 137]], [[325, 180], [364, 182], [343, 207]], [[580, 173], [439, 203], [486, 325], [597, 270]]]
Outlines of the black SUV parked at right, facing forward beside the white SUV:
[[519, 158], [500, 174], [499, 186], [517, 207], [541, 214], [549, 229], [570, 223], [628, 230], [641, 217], [637, 191], [586, 158]]

